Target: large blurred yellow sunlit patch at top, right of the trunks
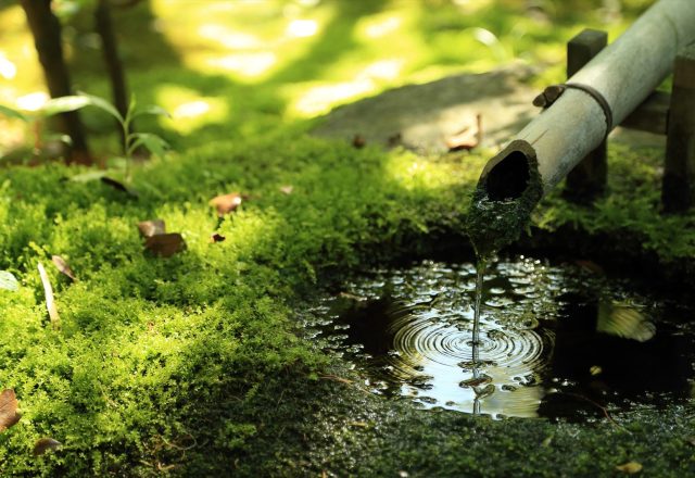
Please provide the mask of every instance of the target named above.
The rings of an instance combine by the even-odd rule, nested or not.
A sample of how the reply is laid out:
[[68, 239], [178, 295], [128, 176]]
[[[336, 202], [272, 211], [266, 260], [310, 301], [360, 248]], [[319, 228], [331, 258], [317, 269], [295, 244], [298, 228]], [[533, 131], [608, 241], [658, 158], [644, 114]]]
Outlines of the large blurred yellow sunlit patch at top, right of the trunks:
[[164, 1], [153, 7], [161, 34], [186, 67], [250, 84], [267, 79], [309, 51], [336, 10], [319, 2], [277, 1], [219, 2], [185, 14]]

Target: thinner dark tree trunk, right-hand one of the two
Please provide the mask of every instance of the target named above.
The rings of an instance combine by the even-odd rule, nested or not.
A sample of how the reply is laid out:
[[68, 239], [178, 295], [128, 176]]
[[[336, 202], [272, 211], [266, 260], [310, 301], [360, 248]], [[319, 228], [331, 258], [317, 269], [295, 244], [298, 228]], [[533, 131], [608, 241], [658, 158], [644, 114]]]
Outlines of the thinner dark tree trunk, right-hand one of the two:
[[[111, 79], [113, 103], [116, 106], [116, 110], [118, 110], [118, 113], [125, 117], [128, 111], [127, 87], [125, 75], [123, 73], [123, 62], [118, 55], [116, 36], [113, 30], [113, 21], [111, 20], [111, 7], [109, 5], [109, 0], [99, 0], [97, 9], [94, 10], [94, 24], [97, 27], [97, 34], [101, 37], [101, 51], [104, 55], [104, 63], [106, 65], [106, 71], [109, 72], [109, 78]], [[132, 125], [130, 125], [130, 127], [132, 128]], [[121, 131], [121, 143], [124, 144], [125, 148], [125, 133], [121, 128], [121, 124], [118, 124], [118, 131]]]

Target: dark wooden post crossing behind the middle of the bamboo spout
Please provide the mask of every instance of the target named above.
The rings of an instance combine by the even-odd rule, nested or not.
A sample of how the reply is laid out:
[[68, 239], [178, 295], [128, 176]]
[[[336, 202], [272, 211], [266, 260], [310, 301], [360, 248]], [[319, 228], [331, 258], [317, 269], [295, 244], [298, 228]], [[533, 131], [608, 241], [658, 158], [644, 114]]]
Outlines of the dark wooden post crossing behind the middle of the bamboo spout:
[[[567, 43], [567, 77], [579, 72], [608, 43], [606, 32], [586, 28]], [[606, 190], [606, 141], [589, 153], [567, 175], [563, 191], [566, 199], [586, 203]]]

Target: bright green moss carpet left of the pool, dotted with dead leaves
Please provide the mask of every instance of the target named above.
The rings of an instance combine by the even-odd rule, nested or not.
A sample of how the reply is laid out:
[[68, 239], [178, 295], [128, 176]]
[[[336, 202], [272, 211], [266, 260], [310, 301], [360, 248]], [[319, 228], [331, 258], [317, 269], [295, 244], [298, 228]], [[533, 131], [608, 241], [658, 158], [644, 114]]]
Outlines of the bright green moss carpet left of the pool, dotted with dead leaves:
[[[217, 456], [206, 465], [215, 467], [243, 456], [266, 413], [248, 402], [266, 400], [263, 386], [282, 374], [305, 382], [327, 364], [290, 319], [298, 293], [363, 264], [380, 241], [396, 254], [404, 237], [460, 216], [454, 200], [467, 191], [447, 179], [458, 167], [277, 135], [146, 164], [137, 200], [65, 180], [79, 173], [72, 168], [2, 171], [1, 267], [22, 288], [0, 294], [0, 385], [16, 390], [24, 412], [1, 437], [3, 473], [147, 475], [197, 453]], [[207, 201], [231, 190], [250, 198], [222, 222], [227, 239], [211, 243]], [[182, 234], [186, 252], [143, 253], [137, 223], [154, 217]], [[58, 331], [36, 269], [52, 254], [79, 278], [49, 268]], [[63, 451], [34, 458], [42, 436]], [[195, 443], [205, 445], [181, 452]]]

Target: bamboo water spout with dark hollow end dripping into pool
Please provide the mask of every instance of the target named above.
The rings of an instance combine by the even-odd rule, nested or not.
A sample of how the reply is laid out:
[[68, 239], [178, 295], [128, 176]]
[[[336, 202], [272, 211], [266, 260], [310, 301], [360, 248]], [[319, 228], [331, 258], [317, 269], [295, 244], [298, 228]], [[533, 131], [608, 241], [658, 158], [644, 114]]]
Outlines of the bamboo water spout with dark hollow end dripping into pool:
[[659, 0], [649, 8], [488, 162], [473, 198], [473, 205], [486, 202], [471, 211], [479, 215], [477, 224], [494, 221], [500, 207], [506, 207], [525, 216], [518, 218], [520, 228], [543, 194], [654, 91], [671, 72], [679, 50], [693, 41], [695, 0]]

